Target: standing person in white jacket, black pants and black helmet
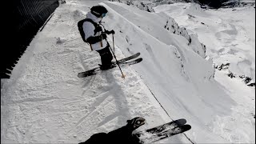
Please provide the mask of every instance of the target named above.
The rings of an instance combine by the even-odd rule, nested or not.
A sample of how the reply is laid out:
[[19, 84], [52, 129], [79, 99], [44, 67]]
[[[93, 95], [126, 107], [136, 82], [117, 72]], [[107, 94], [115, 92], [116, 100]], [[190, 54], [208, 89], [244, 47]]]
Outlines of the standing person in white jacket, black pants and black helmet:
[[[101, 56], [102, 70], [110, 69], [113, 56], [110, 52], [110, 46], [106, 42], [106, 34], [114, 34], [114, 30], [102, 30], [100, 26], [102, 18], [106, 16], [107, 10], [104, 6], [93, 6], [90, 12], [86, 14], [86, 18], [91, 19], [93, 22], [83, 22], [82, 28], [85, 34], [85, 39], [90, 43], [90, 48], [96, 50]], [[95, 25], [95, 23], [97, 25]]]

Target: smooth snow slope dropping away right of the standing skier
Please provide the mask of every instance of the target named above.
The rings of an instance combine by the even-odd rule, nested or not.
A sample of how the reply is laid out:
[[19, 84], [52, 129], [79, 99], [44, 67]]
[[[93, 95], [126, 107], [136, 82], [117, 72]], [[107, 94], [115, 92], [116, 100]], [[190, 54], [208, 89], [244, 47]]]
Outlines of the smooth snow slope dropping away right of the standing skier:
[[[106, 23], [118, 31], [116, 45], [124, 54], [142, 53], [143, 62], [133, 66], [134, 70], [170, 117], [190, 120], [194, 129], [188, 135], [195, 142], [226, 142], [212, 134], [207, 126], [213, 115], [229, 114], [230, 106], [234, 105], [214, 82], [212, 61], [194, 53], [186, 38], [164, 29], [161, 24], [166, 18], [159, 14], [128, 8], [118, 2], [108, 2], [104, 6], [110, 11]], [[207, 138], [198, 136], [202, 135], [200, 130]]]

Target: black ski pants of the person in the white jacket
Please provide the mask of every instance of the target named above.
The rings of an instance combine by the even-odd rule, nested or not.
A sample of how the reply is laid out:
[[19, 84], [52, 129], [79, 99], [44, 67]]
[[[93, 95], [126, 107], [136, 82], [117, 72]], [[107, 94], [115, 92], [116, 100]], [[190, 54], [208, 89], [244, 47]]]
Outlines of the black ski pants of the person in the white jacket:
[[102, 66], [110, 66], [113, 56], [110, 52], [110, 46], [106, 46], [102, 50], [96, 50], [102, 59]]

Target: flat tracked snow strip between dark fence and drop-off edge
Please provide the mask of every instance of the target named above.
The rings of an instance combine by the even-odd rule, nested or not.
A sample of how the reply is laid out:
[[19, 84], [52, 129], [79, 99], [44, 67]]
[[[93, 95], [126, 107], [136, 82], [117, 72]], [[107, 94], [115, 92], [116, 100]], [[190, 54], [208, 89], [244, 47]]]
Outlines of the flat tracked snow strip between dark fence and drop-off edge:
[[[167, 120], [158, 115], [158, 105], [152, 105], [149, 90], [129, 66], [122, 68], [126, 80], [118, 69], [77, 78], [78, 72], [97, 66], [100, 58], [81, 38], [75, 39], [79, 5], [74, 5], [78, 4], [69, 2], [55, 10], [26, 50], [33, 57], [25, 62], [30, 55], [24, 54], [16, 67], [24, 73], [3, 86], [1, 115], [8, 119], [2, 123], [3, 142], [82, 142], [135, 116], [149, 119], [146, 126]], [[120, 50], [116, 54], [124, 57]]]

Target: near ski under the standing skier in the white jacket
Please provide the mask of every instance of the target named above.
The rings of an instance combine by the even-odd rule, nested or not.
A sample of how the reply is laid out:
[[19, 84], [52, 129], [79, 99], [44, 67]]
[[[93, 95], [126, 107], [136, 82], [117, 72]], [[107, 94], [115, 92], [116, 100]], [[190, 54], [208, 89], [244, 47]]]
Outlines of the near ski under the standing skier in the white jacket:
[[[128, 61], [128, 60], [129, 60], [129, 59], [126, 59], [126, 61]], [[132, 60], [132, 61], [130, 61], [130, 62], [126, 62], [126, 61], [124, 61], [124, 60], [120, 60], [120, 61], [121, 61], [121, 63], [119, 63], [119, 65], [120, 65], [121, 67], [122, 67], [122, 66], [130, 66], [130, 65], [134, 65], [134, 64], [136, 64], [136, 63], [138, 63], [138, 62], [142, 62], [142, 58], [137, 58], [137, 59]], [[110, 69], [112, 69], [112, 68], [114, 68], [114, 67], [116, 67], [116, 66], [117, 66], [117, 62], [113, 62], [113, 64], [111, 65], [111, 68], [110, 68]], [[108, 69], [108, 70], [110, 70], [110, 69]], [[98, 67], [96, 67], [96, 68], [94, 68], [94, 69], [92, 69], [92, 70], [88, 70], [88, 71], [79, 73], [79, 74], [78, 74], [78, 78], [85, 78], [85, 77], [88, 77], [88, 76], [90, 76], [90, 75], [98, 74], [99, 71], [101, 71], [100, 66], [98, 66]]]

